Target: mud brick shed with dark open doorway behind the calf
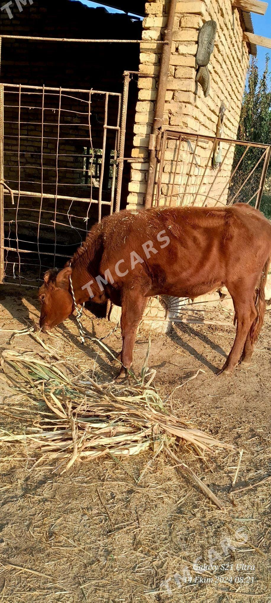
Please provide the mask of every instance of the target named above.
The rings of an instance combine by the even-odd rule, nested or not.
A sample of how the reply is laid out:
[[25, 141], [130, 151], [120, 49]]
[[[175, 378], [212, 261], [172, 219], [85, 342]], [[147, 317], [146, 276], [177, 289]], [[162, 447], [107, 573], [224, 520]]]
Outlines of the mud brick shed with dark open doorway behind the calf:
[[228, 201], [235, 144], [212, 137], [237, 136], [249, 54], [270, 42], [250, 10], [266, 4], [103, 5], [1, 5], [0, 282], [62, 265], [109, 212]]

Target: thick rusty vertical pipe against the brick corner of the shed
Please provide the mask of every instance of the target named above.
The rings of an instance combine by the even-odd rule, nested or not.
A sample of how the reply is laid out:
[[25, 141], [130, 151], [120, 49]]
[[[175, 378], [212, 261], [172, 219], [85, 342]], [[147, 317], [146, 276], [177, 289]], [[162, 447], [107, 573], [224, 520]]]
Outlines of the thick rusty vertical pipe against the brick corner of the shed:
[[158, 93], [155, 107], [155, 118], [153, 120], [153, 140], [155, 144], [150, 153], [150, 163], [148, 168], [148, 183], [147, 191], [145, 195], [145, 207], [151, 207], [153, 202], [153, 187], [155, 184], [155, 172], [156, 172], [156, 139], [159, 132], [162, 132], [163, 116], [165, 108], [165, 95], [167, 92], [167, 81], [168, 81], [168, 69], [170, 67], [170, 56], [171, 56], [171, 45], [173, 42], [173, 28], [174, 28], [174, 17], [176, 13], [177, 0], [170, 0], [170, 7], [168, 12], [167, 29], [165, 30], [164, 41], [167, 45], [162, 48], [161, 67], [159, 73], [159, 84]]

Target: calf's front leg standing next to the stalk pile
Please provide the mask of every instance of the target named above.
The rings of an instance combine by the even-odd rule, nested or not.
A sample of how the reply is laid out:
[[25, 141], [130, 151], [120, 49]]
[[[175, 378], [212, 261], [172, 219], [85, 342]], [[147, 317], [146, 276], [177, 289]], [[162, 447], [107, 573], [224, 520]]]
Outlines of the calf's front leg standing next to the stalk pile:
[[125, 377], [127, 368], [132, 365], [136, 331], [146, 305], [147, 298], [139, 292], [124, 293], [121, 304], [121, 335], [123, 336], [121, 362], [123, 367], [121, 368], [120, 377]]

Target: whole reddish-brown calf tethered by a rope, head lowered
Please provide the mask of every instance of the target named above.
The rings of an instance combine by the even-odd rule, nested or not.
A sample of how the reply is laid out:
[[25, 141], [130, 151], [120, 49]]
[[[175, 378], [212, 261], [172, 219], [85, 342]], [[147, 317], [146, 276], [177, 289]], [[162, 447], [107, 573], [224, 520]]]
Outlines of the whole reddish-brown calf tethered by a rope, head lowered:
[[222, 368], [230, 372], [240, 357], [250, 361], [263, 325], [270, 256], [271, 224], [245, 204], [123, 211], [95, 224], [71, 267], [45, 274], [39, 290], [40, 327], [50, 329], [74, 310], [71, 276], [77, 303], [92, 297], [121, 306], [123, 376], [132, 364], [148, 297], [194, 299], [226, 285], [237, 321], [234, 345]]

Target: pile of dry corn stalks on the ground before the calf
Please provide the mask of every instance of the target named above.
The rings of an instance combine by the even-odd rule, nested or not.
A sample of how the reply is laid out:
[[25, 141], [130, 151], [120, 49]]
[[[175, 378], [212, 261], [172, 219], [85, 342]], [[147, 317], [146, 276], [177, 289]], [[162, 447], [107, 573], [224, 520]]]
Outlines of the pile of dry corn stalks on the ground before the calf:
[[[18, 393], [23, 399], [32, 400], [38, 420], [34, 425], [32, 421], [23, 433], [0, 430], [0, 446], [13, 444], [14, 449], [23, 443], [28, 454], [39, 453], [40, 461], [59, 459], [57, 468], [65, 466], [64, 471], [78, 459], [107, 454], [116, 458], [147, 449], [152, 449], [156, 456], [165, 449], [175, 466], [190, 475], [222, 508], [209, 488], [180, 463], [175, 453], [176, 442], [190, 443], [199, 456], [215, 447], [234, 447], [166, 414], [161, 397], [150, 385], [151, 379], [144, 385], [145, 367], [141, 383], [119, 385], [98, 384], [71, 360], [65, 361], [65, 370], [61, 366], [59, 360], [45, 361], [29, 351], [2, 352], [2, 385], [13, 395]], [[44, 412], [45, 403], [49, 412]]]

